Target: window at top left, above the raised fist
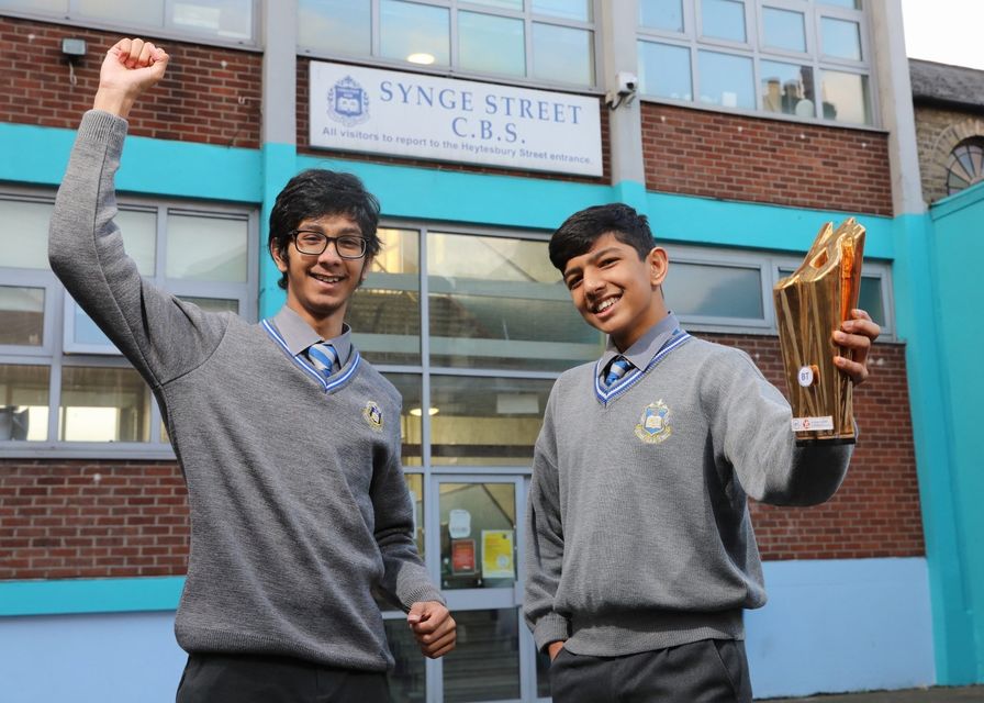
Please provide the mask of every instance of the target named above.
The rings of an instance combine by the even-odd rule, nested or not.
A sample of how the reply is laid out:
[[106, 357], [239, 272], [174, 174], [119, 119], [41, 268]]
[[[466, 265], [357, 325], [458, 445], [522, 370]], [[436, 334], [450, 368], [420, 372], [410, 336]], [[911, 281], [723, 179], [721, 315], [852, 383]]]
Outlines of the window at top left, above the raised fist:
[[163, 30], [220, 44], [256, 44], [256, 0], [0, 0], [0, 9], [83, 26]]

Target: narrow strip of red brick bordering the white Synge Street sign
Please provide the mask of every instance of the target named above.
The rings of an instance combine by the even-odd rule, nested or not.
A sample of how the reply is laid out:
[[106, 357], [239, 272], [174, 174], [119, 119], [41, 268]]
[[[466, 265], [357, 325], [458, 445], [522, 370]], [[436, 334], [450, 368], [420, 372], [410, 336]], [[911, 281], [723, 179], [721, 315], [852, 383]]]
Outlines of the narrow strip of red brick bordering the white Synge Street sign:
[[[420, 166], [422, 168], [436, 168], [443, 171], [467, 171], [470, 174], [499, 174], [503, 176], [518, 176], [521, 178], [549, 178], [550, 180], [577, 181], [584, 183], [608, 185], [612, 180], [612, 158], [608, 138], [608, 109], [602, 104], [599, 98], [599, 112], [601, 114], [602, 129], [602, 176], [588, 178], [584, 176], [567, 176], [563, 174], [548, 174], [539, 171], [517, 170], [507, 168], [492, 168], [490, 166], [451, 164], [445, 161], [428, 161], [424, 159], [411, 159], [399, 156], [381, 156], [378, 154], [358, 154], [354, 152], [340, 152], [311, 146], [311, 115], [309, 91], [309, 66], [311, 60], [298, 57], [298, 152], [320, 157], [333, 157], [344, 155], [344, 158], [356, 161], [372, 161], [376, 164], [401, 164], [404, 166]], [[383, 203], [385, 204], [385, 203]]]

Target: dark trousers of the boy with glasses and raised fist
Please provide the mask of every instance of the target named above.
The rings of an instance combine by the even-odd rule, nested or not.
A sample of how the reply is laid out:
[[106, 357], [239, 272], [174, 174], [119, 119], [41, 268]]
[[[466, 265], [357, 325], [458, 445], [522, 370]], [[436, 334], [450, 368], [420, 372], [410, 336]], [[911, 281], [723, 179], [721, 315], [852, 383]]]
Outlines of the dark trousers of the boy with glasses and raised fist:
[[289, 657], [190, 655], [177, 703], [389, 703], [387, 674]]

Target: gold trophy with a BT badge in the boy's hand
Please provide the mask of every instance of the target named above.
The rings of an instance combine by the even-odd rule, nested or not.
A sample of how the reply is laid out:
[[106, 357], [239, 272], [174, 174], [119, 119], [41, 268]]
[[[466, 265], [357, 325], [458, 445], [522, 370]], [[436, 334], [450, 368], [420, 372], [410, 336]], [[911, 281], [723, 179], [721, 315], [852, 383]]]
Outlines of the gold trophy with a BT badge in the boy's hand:
[[834, 365], [849, 352], [834, 332], [861, 289], [864, 227], [853, 217], [821, 228], [803, 264], [772, 289], [797, 444], [854, 442], [851, 380]]

